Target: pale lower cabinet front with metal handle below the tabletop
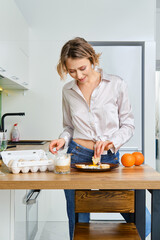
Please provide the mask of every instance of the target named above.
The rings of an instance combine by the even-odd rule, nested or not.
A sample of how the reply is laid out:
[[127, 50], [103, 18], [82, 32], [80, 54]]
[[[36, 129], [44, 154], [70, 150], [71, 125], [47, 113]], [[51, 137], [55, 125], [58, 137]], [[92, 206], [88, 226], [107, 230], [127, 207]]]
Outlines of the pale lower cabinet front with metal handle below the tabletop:
[[14, 240], [37, 237], [39, 194], [39, 190], [14, 191]]

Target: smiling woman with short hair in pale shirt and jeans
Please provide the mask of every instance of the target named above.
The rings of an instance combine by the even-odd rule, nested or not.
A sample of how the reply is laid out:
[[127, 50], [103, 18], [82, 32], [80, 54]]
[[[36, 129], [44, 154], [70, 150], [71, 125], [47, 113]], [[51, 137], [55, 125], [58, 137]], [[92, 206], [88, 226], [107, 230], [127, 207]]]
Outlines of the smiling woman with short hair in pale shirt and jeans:
[[[63, 87], [64, 131], [50, 144], [55, 154], [68, 147], [72, 163], [119, 163], [119, 148], [134, 133], [134, 117], [126, 83], [118, 76], [97, 68], [100, 54], [83, 38], [68, 41], [61, 50], [57, 71], [64, 79], [74, 79]], [[75, 214], [74, 190], [65, 190], [70, 240], [73, 239]], [[88, 222], [89, 214], [80, 213], [80, 222]]]

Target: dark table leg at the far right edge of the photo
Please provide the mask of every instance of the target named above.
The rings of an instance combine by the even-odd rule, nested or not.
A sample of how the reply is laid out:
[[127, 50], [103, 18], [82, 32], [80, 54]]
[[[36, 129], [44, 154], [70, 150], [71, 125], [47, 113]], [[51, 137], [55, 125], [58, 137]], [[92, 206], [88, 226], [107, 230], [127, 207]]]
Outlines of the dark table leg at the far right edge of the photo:
[[152, 190], [151, 200], [151, 239], [160, 239], [160, 190]]

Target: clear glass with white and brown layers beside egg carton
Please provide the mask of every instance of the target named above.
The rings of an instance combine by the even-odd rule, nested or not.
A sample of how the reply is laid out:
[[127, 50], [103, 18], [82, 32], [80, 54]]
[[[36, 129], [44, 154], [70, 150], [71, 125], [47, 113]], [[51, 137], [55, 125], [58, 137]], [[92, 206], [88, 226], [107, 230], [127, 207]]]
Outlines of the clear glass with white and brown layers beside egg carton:
[[71, 171], [71, 155], [59, 153], [54, 159], [54, 172], [57, 174], [67, 174]]

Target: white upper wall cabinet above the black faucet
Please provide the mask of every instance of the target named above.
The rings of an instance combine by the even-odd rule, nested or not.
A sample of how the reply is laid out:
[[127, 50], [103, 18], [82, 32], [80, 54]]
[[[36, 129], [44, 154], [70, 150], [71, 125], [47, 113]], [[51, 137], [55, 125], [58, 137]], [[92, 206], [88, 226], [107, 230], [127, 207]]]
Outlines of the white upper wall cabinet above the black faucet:
[[28, 89], [29, 27], [14, 0], [0, 6], [0, 87]]

